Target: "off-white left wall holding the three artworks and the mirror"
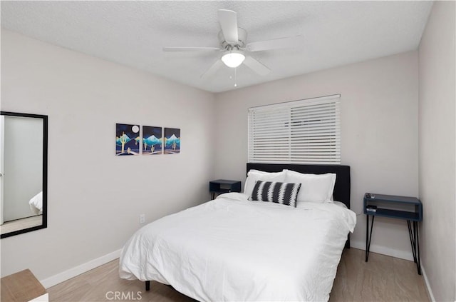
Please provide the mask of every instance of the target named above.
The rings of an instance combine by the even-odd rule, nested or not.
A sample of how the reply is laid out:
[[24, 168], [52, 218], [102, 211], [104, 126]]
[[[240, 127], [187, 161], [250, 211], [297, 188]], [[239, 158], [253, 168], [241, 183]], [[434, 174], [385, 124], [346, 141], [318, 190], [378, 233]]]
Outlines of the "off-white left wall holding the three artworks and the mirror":
[[[209, 200], [214, 96], [1, 31], [1, 110], [48, 115], [48, 228], [1, 239], [1, 276], [38, 279], [118, 250]], [[115, 123], [181, 129], [182, 153], [115, 156]]]

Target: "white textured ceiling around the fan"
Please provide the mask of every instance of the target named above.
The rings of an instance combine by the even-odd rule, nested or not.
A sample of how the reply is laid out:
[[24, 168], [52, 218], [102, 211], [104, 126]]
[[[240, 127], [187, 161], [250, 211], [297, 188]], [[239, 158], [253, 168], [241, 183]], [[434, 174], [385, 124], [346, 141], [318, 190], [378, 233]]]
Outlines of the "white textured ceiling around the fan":
[[234, 69], [200, 76], [221, 54], [164, 53], [219, 46], [217, 10], [237, 11], [247, 42], [304, 36], [298, 49], [251, 53], [272, 70], [237, 68], [251, 86], [418, 48], [432, 1], [1, 1], [1, 26], [212, 92], [234, 88]]

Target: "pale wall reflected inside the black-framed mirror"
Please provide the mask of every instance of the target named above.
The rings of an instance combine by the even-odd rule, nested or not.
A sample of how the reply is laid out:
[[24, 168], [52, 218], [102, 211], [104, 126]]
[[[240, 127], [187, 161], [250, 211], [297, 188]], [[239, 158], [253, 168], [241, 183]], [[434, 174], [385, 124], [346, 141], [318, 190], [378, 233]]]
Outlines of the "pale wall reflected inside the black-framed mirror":
[[5, 116], [4, 221], [34, 216], [28, 201], [43, 190], [43, 120]]

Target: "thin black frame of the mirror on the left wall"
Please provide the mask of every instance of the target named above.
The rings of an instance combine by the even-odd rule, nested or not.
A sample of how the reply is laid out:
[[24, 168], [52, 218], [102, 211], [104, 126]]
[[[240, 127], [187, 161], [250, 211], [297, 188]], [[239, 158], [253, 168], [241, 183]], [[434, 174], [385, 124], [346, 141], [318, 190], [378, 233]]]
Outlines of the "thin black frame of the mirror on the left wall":
[[[11, 237], [21, 233], [40, 230], [48, 227], [48, 116], [41, 114], [21, 114], [17, 112], [0, 111], [1, 116], [19, 116], [33, 119], [43, 119], [43, 221], [40, 226], [23, 228], [0, 235], [0, 238]], [[3, 151], [2, 151], [3, 152]]]

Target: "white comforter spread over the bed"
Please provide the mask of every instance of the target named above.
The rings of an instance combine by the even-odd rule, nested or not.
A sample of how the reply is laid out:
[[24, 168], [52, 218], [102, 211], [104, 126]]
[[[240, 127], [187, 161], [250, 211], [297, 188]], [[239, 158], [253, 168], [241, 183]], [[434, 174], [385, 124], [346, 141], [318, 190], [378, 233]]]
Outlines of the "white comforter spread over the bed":
[[355, 224], [332, 203], [292, 208], [227, 193], [141, 228], [119, 273], [199, 301], [327, 301]]

